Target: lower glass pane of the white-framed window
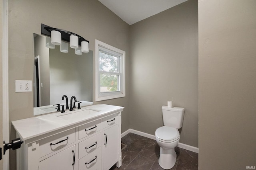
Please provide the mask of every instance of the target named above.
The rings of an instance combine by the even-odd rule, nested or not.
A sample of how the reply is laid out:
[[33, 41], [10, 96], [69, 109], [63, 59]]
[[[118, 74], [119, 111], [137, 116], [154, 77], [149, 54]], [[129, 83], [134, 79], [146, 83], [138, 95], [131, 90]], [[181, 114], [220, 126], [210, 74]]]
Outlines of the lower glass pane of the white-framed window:
[[119, 89], [119, 75], [100, 74], [100, 92], [116, 92]]

